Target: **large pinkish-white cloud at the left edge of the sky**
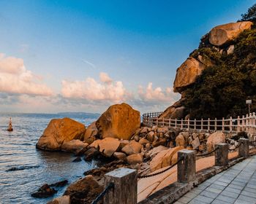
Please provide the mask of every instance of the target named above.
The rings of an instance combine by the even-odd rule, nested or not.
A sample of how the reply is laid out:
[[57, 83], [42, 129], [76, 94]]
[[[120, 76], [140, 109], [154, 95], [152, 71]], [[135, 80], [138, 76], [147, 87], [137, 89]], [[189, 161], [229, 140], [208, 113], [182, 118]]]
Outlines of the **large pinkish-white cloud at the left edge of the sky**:
[[0, 91], [27, 95], [52, 95], [53, 91], [42, 84], [40, 76], [24, 66], [23, 59], [0, 54]]

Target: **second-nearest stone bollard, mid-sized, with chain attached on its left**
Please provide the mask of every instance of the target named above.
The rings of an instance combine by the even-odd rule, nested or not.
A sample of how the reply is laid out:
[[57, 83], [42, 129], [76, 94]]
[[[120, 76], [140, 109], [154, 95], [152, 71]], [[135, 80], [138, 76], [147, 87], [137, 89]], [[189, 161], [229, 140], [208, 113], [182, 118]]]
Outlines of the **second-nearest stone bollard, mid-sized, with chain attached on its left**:
[[183, 149], [178, 151], [178, 182], [187, 183], [195, 179], [195, 151]]

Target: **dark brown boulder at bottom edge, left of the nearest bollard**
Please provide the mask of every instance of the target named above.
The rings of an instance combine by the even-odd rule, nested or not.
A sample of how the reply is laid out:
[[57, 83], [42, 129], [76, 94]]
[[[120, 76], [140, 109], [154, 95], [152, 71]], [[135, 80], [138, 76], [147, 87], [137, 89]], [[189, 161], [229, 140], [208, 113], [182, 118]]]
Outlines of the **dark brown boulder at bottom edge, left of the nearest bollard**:
[[89, 175], [70, 184], [64, 195], [70, 196], [71, 203], [91, 203], [102, 190], [103, 186]]

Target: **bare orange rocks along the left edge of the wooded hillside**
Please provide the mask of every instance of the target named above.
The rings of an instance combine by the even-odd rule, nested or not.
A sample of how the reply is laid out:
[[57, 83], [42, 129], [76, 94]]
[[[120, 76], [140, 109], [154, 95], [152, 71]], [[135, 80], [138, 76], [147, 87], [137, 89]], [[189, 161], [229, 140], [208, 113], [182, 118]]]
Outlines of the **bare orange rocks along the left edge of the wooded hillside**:
[[[212, 49], [219, 52], [220, 55], [230, 55], [235, 49], [234, 40], [244, 30], [250, 29], [252, 22], [244, 21], [237, 23], [227, 23], [224, 25], [216, 26], [211, 31], [201, 38], [200, 46], [211, 47]], [[193, 55], [197, 50], [192, 52], [177, 68], [176, 78], [173, 84], [173, 90], [176, 93], [181, 93], [181, 99], [168, 107], [160, 118], [184, 118], [189, 117], [189, 111], [184, 106], [186, 100], [186, 90], [188, 87], [195, 83], [197, 76], [200, 76], [204, 69], [213, 66], [216, 62], [209, 58], [200, 55]]]

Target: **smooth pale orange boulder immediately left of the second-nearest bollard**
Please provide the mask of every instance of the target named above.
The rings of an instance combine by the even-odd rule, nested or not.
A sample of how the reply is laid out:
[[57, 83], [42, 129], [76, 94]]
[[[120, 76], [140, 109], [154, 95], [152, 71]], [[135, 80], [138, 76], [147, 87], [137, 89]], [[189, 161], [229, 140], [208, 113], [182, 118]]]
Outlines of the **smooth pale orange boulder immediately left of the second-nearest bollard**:
[[173, 165], [173, 155], [178, 154], [177, 152], [181, 149], [184, 149], [184, 146], [176, 146], [174, 148], [166, 149], [162, 152], [159, 152], [150, 162], [151, 172], [159, 168], [164, 168], [166, 166]]

